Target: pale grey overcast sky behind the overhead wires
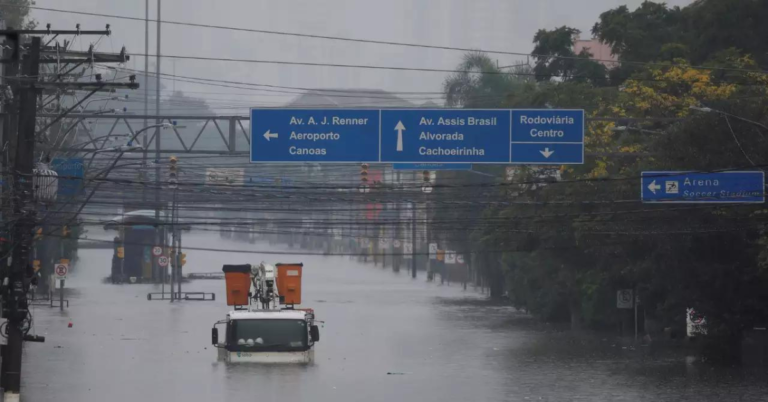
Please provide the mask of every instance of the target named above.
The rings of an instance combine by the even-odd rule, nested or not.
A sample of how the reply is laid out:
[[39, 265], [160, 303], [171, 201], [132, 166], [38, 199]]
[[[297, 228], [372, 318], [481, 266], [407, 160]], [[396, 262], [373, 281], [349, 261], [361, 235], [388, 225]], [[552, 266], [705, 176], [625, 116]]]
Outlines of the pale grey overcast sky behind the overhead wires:
[[[162, 0], [162, 19], [344, 36], [451, 47], [530, 52], [534, 33], [541, 28], [568, 25], [582, 37], [600, 13], [642, 0]], [[671, 0], [684, 6], [690, 0]], [[144, 0], [37, 0], [40, 7], [144, 17]], [[150, 18], [157, 16], [157, 0], [150, 0]], [[101, 51], [144, 52], [144, 23], [34, 10], [33, 16], [54, 28], [80, 23], [83, 29], [112, 25], [113, 35], [100, 41]], [[150, 53], [155, 52], [156, 31], [150, 27]], [[92, 38], [78, 39], [87, 48]], [[399, 46], [356, 44], [225, 30], [163, 25], [162, 52], [171, 55], [241, 59], [306, 61], [424, 68], [454, 68], [462, 53]], [[494, 56], [496, 57], [496, 56]], [[514, 64], [519, 57], [498, 56], [499, 63]], [[154, 58], [150, 59], [154, 63]], [[143, 69], [141, 57], [128, 67]], [[163, 59], [162, 71], [172, 73], [173, 62]], [[312, 88], [380, 88], [389, 91], [440, 91], [445, 73], [360, 70], [331, 67], [277, 66], [178, 60], [176, 74], [232, 81]], [[168, 88], [171, 80], [164, 81]], [[177, 82], [177, 89], [206, 97], [219, 112], [243, 112], [248, 105], [287, 102], [293, 94], [265, 93]], [[204, 94], [203, 92], [212, 92]], [[251, 94], [233, 97], [221, 93]], [[412, 95], [424, 102], [438, 95]], [[437, 99], [435, 99], [437, 100]]]

